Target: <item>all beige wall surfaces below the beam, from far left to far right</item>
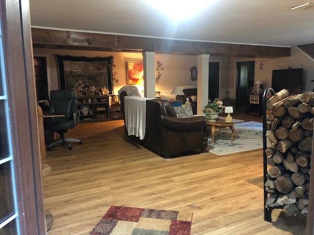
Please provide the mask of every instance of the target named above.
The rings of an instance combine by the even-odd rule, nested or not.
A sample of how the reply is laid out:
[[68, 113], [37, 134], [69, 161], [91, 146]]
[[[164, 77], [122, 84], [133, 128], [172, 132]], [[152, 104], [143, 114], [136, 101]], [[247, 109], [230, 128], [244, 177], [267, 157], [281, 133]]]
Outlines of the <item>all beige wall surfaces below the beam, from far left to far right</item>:
[[[47, 49], [47, 48], [33, 48], [34, 55], [48, 55], [49, 57], [49, 71], [51, 77], [51, 89], [57, 90], [59, 88], [59, 79], [54, 54], [58, 55], [72, 55], [72, 56], [110, 56], [114, 57], [115, 78], [118, 82], [113, 83], [114, 93], [117, 94], [119, 89], [126, 85], [127, 78], [127, 61], [142, 61], [141, 53], [128, 52], [106, 52], [106, 51], [87, 51], [87, 50], [64, 50], [64, 49]], [[239, 57], [215, 57], [210, 56], [209, 61], [220, 62], [220, 83], [219, 83], [219, 98], [226, 97], [226, 92], [230, 92], [230, 98], [235, 98], [235, 72], [237, 61], [252, 61], [255, 60], [255, 81], [262, 80], [265, 88], [271, 86], [271, 76], [273, 70], [288, 69], [291, 65], [293, 69], [303, 68], [306, 75], [306, 82], [303, 85], [303, 91], [312, 91], [314, 84], [311, 80], [314, 79], [314, 60], [302, 52], [297, 47], [292, 47], [291, 56], [283, 58], [239, 58]], [[156, 54], [155, 63], [157, 61], [162, 64], [163, 71], [158, 83], [155, 83], [155, 90], [160, 91], [163, 99], [175, 98], [170, 92], [175, 86], [192, 85], [197, 86], [197, 81], [189, 79], [189, 69], [192, 66], [197, 66], [197, 57], [190, 55], [166, 55]], [[259, 62], [265, 61], [265, 70], [259, 70]], [[157, 76], [157, 71], [155, 71]], [[138, 86], [139, 91], [142, 90]]]

